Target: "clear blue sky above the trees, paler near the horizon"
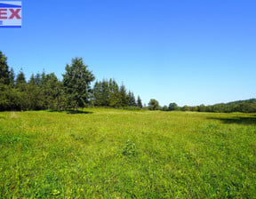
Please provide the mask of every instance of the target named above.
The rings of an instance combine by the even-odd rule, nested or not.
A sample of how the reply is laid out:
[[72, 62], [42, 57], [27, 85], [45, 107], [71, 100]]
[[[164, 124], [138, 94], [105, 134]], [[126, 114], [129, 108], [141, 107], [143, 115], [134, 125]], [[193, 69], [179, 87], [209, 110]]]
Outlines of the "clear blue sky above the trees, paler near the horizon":
[[83, 57], [143, 103], [215, 104], [256, 98], [254, 0], [22, 1], [22, 28], [0, 28], [16, 73], [60, 79]]

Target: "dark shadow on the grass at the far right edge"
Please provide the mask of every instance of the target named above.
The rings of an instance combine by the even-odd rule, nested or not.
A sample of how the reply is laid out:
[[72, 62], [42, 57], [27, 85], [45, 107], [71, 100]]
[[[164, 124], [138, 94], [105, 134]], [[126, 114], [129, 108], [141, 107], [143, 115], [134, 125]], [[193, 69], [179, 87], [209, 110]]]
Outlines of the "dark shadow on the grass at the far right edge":
[[237, 123], [237, 124], [244, 124], [244, 125], [256, 125], [256, 117], [253, 117], [253, 116], [250, 116], [250, 117], [236, 116], [236, 117], [231, 117], [231, 118], [208, 117], [207, 119], [220, 120], [222, 123]]

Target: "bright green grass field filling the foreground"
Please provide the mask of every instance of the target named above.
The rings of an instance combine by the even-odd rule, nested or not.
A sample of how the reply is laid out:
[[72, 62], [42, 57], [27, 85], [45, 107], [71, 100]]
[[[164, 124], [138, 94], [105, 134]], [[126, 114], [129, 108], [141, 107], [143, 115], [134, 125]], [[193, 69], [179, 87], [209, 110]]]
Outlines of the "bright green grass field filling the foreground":
[[0, 113], [0, 198], [256, 198], [256, 115]]

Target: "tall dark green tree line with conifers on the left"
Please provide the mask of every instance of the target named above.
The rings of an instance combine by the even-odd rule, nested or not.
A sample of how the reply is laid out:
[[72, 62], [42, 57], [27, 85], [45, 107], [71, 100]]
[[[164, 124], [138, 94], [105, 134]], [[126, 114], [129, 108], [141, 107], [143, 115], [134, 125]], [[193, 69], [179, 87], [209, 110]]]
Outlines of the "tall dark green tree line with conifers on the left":
[[114, 79], [96, 81], [82, 58], [72, 59], [60, 81], [54, 73], [37, 73], [26, 81], [20, 70], [15, 76], [7, 57], [0, 52], [0, 110], [63, 110], [78, 107], [142, 108], [140, 96], [127, 92]]

